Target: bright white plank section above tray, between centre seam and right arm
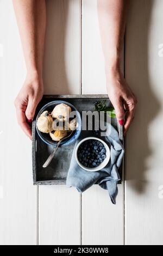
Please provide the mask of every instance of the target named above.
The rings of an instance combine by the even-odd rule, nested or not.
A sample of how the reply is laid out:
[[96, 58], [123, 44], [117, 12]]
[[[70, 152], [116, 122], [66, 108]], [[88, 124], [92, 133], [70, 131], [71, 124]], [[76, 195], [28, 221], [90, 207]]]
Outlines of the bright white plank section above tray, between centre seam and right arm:
[[106, 94], [104, 56], [99, 33], [97, 1], [83, 0], [82, 93]]

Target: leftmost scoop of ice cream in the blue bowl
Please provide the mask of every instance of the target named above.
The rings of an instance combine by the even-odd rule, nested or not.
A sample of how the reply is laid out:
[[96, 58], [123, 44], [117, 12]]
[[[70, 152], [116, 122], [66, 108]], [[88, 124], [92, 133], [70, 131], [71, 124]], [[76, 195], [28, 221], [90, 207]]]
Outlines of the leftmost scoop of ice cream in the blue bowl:
[[53, 131], [53, 118], [48, 113], [48, 111], [44, 111], [40, 117], [37, 119], [37, 128], [40, 132], [49, 133]]

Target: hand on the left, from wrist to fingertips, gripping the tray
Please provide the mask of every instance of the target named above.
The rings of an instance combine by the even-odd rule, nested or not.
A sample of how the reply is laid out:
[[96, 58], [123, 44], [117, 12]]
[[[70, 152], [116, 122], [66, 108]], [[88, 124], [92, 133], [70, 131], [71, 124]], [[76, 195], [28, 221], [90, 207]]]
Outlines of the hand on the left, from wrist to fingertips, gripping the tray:
[[20, 92], [15, 99], [17, 122], [26, 135], [32, 139], [30, 124], [35, 110], [43, 96], [43, 82], [37, 74], [27, 75]]

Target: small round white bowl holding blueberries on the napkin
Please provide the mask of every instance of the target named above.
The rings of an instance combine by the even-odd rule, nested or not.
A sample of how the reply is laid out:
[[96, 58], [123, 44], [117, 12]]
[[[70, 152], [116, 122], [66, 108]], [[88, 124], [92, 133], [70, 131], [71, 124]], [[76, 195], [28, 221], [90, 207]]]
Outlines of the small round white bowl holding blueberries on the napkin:
[[[94, 168], [85, 167], [85, 166], [83, 166], [83, 164], [80, 163], [79, 160], [78, 160], [78, 148], [79, 148], [79, 146], [80, 146], [83, 142], [88, 141], [89, 139], [95, 139], [96, 141], [100, 141], [101, 143], [103, 143], [103, 145], [104, 145], [104, 147], [105, 147], [105, 149], [106, 149], [106, 158], [104, 159], [104, 161], [103, 161], [101, 164], [99, 164], [99, 166], [94, 167]], [[104, 141], [102, 141], [102, 139], [99, 139], [99, 138], [96, 138], [96, 137], [87, 137], [87, 138], [82, 139], [82, 141], [80, 141], [80, 142], [77, 144], [76, 151], [75, 151], [75, 155], [76, 155], [77, 163], [79, 164], [79, 166], [80, 166], [82, 169], [87, 170], [88, 172], [97, 172], [98, 170], [103, 169], [103, 168], [106, 166], [106, 164], [108, 164], [108, 162], [109, 162], [109, 160], [110, 160], [110, 149], [109, 149], [108, 145], [107, 145]]]

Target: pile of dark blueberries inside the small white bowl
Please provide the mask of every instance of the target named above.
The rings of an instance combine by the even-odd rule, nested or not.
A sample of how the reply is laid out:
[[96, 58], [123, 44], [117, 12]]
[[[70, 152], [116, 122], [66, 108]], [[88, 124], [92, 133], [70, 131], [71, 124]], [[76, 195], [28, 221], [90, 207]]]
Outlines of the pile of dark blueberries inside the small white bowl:
[[77, 154], [83, 166], [95, 168], [106, 158], [106, 149], [100, 141], [88, 139], [79, 146]]

